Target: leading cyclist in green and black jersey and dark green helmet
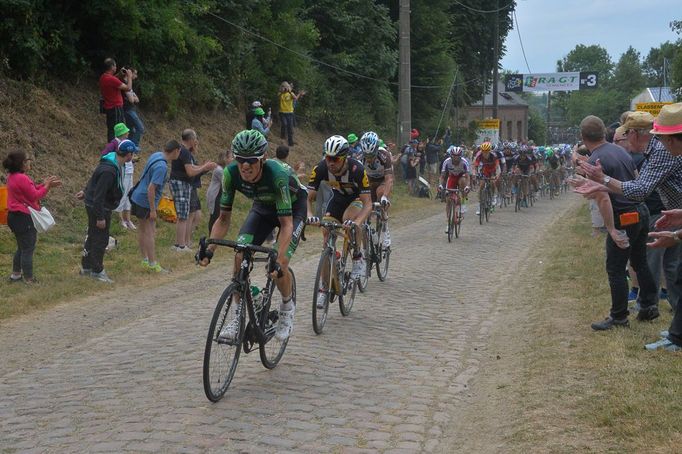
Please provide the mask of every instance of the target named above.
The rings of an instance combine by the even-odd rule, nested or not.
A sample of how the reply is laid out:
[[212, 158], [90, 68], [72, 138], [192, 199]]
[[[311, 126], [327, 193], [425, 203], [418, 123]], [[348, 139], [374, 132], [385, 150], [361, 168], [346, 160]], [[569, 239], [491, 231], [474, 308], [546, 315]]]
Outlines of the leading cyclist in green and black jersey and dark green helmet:
[[[282, 302], [275, 337], [287, 339], [294, 326], [294, 302], [291, 300], [291, 274], [289, 260], [294, 254], [305, 225], [307, 194], [291, 168], [287, 169], [272, 159], [265, 159], [268, 141], [256, 130], [238, 133], [232, 140], [235, 160], [223, 171], [223, 194], [220, 199], [220, 217], [213, 224], [212, 239], [227, 235], [232, 217], [235, 191], [239, 191], [253, 205], [239, 230], [237, 242], [261, 245], [275, 227], [279, 227], [277, 269], [273, 278], [277, 284]], [[217, 245], [210, 244], [199, 250], [197, 260], [202, 266], [210, 263]], [[238, 272], [241, 254], [235, 256], [234, 270]], [[220, 336], [233, 339], [239, 331], [239, 316], [228, 323]]]

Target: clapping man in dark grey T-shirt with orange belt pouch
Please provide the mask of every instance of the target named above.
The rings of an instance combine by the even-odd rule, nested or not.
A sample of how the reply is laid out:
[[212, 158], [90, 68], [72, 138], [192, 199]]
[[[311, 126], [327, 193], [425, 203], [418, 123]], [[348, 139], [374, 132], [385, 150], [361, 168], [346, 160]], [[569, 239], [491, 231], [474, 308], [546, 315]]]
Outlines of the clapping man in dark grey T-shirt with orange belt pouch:
[[[585, 117], [580, 123], [580, 132], [585, 146], [591, 152], [587, 163], [593, 166], [597, 162], [601, 163], [606, 175], [604, 183], [608, 184], [612, 178], [623, 182], [635, 180], [637, 170], [632, 158], [621, 147], [606, 141], [606, 128], [601, 119], [592, 115]], [[581, 167], [587, 168], [583, 164]], [[605, 197], [604, 193], [597, 193], [596, 200], [609, 231], [606, 237], [606, 272], [611, 288], [611, 312], [603, 321], [593, 323], [592, 329], [628, 326], [628, 284], [625, 278], [628, 259], [640, 284], [641, 310], [637, 320], [653, 320], [659, 313], [657, 286], [646, 261], [649, 210], [646, 205], [618, 194], [609, 193]], [[625, 235], [616, 229], [622, 229]]]

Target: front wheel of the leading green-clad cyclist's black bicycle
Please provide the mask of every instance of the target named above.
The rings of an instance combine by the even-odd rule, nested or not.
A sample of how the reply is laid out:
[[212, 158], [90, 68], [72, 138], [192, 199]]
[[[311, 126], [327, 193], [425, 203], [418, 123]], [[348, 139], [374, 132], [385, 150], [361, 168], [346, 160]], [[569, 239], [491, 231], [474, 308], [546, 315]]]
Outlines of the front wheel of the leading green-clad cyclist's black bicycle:
[[[236, 284], [230, 284], [213, 311], [204, 350], [204, 392], [211, 402], [218, 402], [223, 397], [237, 370], [245, 312]], [[237, 317], [238, 321], [233, 322]], [[229, 330], [231, 323], [236, 323], [236, 330]], [[228, 331], [231, 331], [229, 337]]]

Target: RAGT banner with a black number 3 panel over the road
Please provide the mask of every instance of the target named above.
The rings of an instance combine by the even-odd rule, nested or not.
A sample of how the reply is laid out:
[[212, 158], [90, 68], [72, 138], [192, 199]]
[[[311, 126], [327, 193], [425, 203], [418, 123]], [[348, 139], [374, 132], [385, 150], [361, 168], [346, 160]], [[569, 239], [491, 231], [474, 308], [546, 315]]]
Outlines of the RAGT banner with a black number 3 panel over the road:
[[507, 74], [505, 90], [514, 92], [576, 91], [597, 88], [596, 72]]

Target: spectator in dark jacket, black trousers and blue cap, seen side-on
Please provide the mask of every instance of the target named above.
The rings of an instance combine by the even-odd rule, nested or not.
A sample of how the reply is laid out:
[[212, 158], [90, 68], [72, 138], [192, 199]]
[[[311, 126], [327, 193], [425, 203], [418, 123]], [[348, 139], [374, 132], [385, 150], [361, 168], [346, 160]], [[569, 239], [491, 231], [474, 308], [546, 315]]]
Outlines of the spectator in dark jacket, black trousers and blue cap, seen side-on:
[[109, 244], [111, 210], [119, 206], [125, 195], [121, 166], [133, 159], [136, 150], [137, 146], [132, 140], [121, 142], [116, 152], [102, 156], [85, 190], [76, 194], [78, 199], [85, 200], [88, 214], [88, 236], [83, 245], [80, 273], [108, 284], [114, 282], [104, 271], [104, 250]]

